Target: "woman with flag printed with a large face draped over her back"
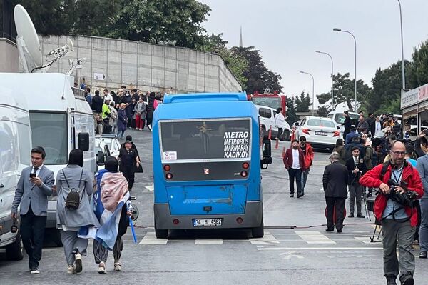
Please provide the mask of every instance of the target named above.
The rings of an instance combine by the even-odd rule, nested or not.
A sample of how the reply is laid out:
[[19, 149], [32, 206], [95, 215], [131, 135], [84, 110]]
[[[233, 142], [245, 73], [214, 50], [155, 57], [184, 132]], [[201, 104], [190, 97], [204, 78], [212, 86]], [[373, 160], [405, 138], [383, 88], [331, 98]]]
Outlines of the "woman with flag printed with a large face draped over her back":
[[[108, 219], [112, 219], [113, 212], [118, 204], [123, 200], [128, 200], [128, 182], [126, 178], [118, 173], [118, 161], [113, 156], [106, 159], [105, 169], [98, 171], [95, 175], [96, 192], [93, 194], [93, 209], [101, 225], [105, 224]], [[113, 246], [114, 271], [121, 271], [121, 255], [123, 251], [122, 236], [126, 233], [129, 224], [127, 204], [123, 204], [118, 221], [116, 236], [113, 237], [115, 243]], [[116, 219], [115, 219], [116, 220]], [[108, 248], [96, 239], [93, 240], [93, 256], [98, 264], [98, 273], [104, 274], [106, 270], [106, 261], [108, 257]]]

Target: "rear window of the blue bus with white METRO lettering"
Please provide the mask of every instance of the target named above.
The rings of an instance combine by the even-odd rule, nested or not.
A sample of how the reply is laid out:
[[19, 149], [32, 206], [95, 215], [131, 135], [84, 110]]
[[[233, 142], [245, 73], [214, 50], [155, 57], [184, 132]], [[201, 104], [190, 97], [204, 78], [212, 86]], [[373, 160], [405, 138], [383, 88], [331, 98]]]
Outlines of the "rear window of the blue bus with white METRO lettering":
[[251, 119], [160, 121], [161, 159], [248, 160]]

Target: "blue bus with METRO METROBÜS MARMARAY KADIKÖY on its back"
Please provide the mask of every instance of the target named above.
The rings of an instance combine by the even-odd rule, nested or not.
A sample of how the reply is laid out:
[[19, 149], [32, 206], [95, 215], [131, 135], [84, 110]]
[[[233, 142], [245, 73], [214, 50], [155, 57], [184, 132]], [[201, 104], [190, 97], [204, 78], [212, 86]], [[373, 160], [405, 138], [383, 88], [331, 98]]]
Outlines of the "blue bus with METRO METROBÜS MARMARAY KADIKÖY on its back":
[[[154, 218], [175, 229], [252, 229], [263, 236], [258, 111], [244, 93], [165, 96], [153, 114]], [[262, 154], [260, 154], [262, 150]]]

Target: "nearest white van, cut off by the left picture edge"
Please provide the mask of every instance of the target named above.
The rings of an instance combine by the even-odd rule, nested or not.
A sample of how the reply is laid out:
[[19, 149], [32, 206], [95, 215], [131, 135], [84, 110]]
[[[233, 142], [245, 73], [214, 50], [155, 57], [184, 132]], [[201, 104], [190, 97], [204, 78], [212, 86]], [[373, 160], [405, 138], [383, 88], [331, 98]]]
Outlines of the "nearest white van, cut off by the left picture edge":
[[12, 202], [21, 171], [31, 164], [31, 130], [24, 95], [0, 86], [0, 248], [6, 258], [21, 260], [24, 247], [18, 231], [11, 232]]

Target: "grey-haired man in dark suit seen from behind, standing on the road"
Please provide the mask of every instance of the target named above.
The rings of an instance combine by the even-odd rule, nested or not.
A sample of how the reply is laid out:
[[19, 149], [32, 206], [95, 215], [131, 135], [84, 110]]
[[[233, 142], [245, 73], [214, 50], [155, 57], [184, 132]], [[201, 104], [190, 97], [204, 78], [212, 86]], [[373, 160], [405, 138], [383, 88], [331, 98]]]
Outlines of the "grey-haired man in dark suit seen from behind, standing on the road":
[[[322, 174], [322, 186], [327, 204], [327, 229], [325, 230], [334, 231], [336, 226], [337, 232], [341, 233], [345, 219], [348, 174], [346, 166], [339, 162], [339, 158], [340, 154], [336, 151], [330, 154], [331, 164], [325, 166], [324, 174]], [[336, 211], [336, 221], [333, 219], [334, 211]]]

